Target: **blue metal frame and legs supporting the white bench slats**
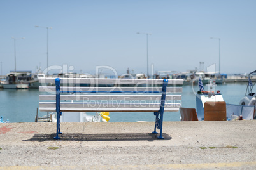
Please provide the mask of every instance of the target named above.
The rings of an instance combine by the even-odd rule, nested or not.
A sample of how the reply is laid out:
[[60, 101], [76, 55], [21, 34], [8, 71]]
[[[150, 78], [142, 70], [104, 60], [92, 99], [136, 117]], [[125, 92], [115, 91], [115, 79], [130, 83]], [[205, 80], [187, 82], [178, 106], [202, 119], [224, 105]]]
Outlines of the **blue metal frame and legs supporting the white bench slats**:
[[[56, 85], [57, 132], [56, 132], [56, 136], [54, 137], [54, 139], [60, 139], [59, 134], [62, 134], [62, 132], [60, 132], [60, 116], [62, 115], [62, 112], [60, 112], [60, 93], [62, 93], [62, 91], [60, 91], [60, 78], [55, 79], [55, 85]], [[157, 137], [159, 139], [164, 139], [164, 137], [162, 137], [162, 121], [163, 121], [163, 117], [164, 117], [164, 104], [165, 104], [165, 100], [166, 100], [166, 87], [167, 86], [168, 86], [168, 79], [164, 79], [163, 84], [162, 84], [162, 96], [161, 96], [160, 108], [159, 108], [158, 112], [154, 112], [155, 129], [152, 133], [157, 134], [156, 129], [160, 129], [160, 135], [159, 135], [159, 137]], [[122, 92], [120, 92], [120, 93], [122, 93]]]

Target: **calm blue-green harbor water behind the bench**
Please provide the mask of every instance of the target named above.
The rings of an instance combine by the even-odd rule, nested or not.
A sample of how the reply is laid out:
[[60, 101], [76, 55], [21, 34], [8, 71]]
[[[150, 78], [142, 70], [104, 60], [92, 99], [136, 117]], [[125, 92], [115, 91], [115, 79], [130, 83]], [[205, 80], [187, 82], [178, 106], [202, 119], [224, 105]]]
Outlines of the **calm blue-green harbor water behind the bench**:
[[[194, 91], [199, 90], [197, 86], [183, 86], [182, 107], [196, 108], [193, 88]], [[207, 87], [204, 89], [207, 90]], [[239, 104], [245, 96], [246, 83], [222, 84], [216, 90], [220, 90], [226, 103]], [[38, 89], [0, 89], [0, 116], [3, 116], [4, 121], [9, 119], [10, 122], [34, 122], [38, 107]], [[46, 112], [39, 112], [39, 116], [42, 115], [46, 115]], [[155, 121], [153, 112], [111, 112], [110, 118], [110, 122]], [[180, 112], [165, 112], [164, 121], [180, 121]]]

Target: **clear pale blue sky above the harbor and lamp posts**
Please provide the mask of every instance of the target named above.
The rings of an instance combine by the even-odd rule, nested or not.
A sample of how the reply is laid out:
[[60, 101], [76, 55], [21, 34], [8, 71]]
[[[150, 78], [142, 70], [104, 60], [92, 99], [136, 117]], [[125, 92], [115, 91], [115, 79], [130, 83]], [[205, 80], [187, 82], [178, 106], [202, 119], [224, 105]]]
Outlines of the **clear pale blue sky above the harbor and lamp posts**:
[[[108, 66], [124, 74], [129, 67], [146, 73], [204, 69], [216, 64], [219, 37], [221, 72], [256, 70], [256, 1], [127, 0], [127, 1], [0, 1], [0, 62], [2, 72], [46, 69], [46, 29], [49, 65], [73, 66], [73, 72], [94, 74]], [[19, 39], [25, 37], [24, 40]], [[60, 70], [52, 70], [52, 72]], [[108, 70], [103, 70], [103, 72]], [[152, 72], [150, 68], [150, 72]]]

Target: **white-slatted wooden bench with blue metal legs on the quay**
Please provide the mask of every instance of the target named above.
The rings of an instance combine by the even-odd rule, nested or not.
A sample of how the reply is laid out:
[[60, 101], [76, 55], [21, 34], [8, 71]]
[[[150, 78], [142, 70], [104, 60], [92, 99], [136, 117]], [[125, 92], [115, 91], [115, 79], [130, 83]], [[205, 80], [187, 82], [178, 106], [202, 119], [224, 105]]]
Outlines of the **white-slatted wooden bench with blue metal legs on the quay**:
[[[42, 78], [39, 82], [39, 91], [47, 93], [39, 95], [39, 110], [57, 112], [55, 139], [61, 134], [62, 112], [154, 112], [152, 133], [160, 129], [158, 138], [163, 139], [164, 111], [178, 112], [181, 106], [181, 95], [169, 93], [181, 93], [182, 87], [176, 85], [183, 85], [181, 79]], [[46, 86], [49, 83], [55, 86]]]

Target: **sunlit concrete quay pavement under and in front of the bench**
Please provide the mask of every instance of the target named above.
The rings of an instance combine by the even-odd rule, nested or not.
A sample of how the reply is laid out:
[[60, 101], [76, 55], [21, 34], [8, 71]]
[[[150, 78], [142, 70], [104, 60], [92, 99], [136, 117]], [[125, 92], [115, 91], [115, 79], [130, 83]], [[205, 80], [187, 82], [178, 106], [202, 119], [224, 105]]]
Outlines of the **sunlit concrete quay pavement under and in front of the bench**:
[[0, 169], [255, 169], [256, 121], [0, 124]]

